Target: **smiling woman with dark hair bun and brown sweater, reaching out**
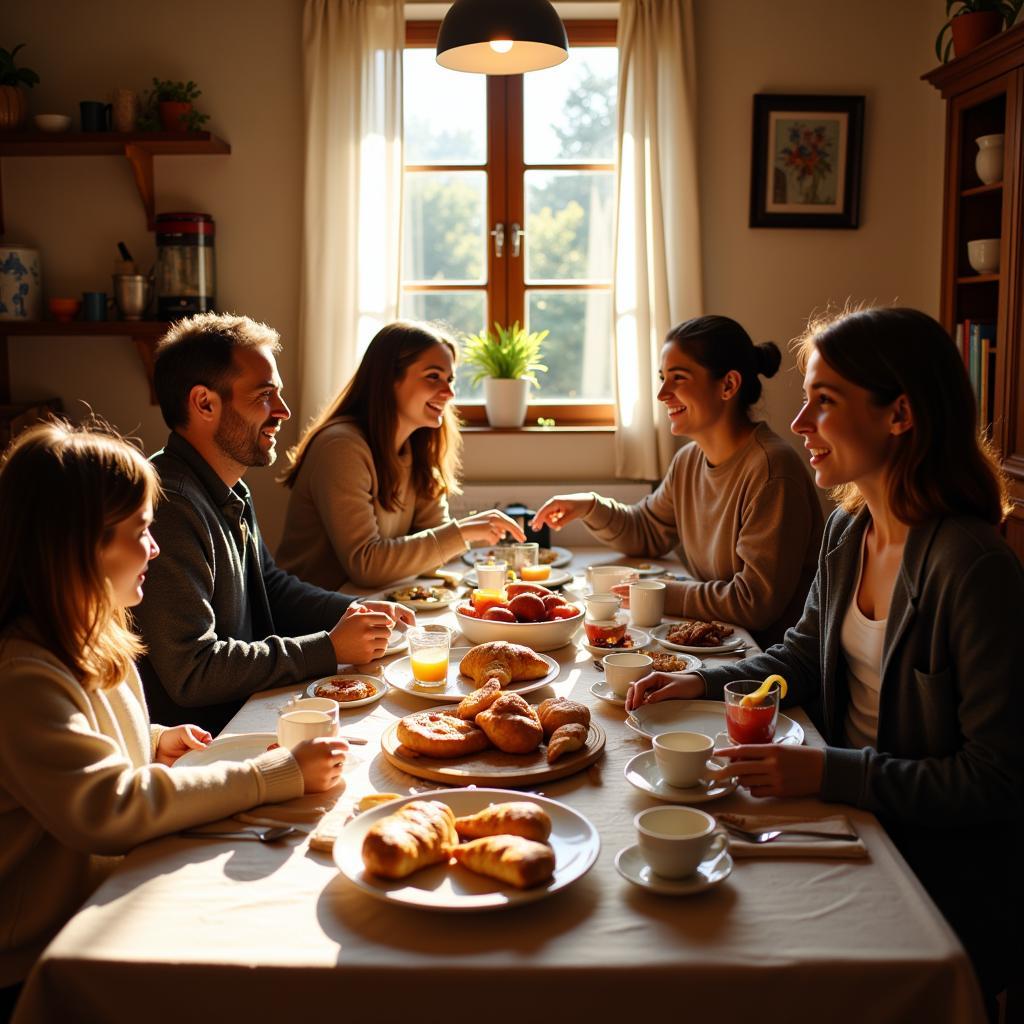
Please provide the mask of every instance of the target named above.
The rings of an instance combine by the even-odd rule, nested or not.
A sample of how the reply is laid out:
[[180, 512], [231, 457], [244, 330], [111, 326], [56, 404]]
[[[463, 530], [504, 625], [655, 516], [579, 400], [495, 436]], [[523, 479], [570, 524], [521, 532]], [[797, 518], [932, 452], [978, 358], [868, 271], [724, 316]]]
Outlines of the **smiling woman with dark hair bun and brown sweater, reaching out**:
[[673, 328], [657, 397], [673, 434], [691, 443], [642, 502], [558, 495], [542, 506], [534, 528], [582, 519], [627, 555], [657, 558], [678, 547], [692, 579], [669, 584], [668, 614], [736, 623], [762, 645], [780, 639], [803, 609], [822, 527], [800, 456], [751, 418], [760, 378], [774, 376], [780, 361], [775, 344], [755, 345], [728, 316]]

